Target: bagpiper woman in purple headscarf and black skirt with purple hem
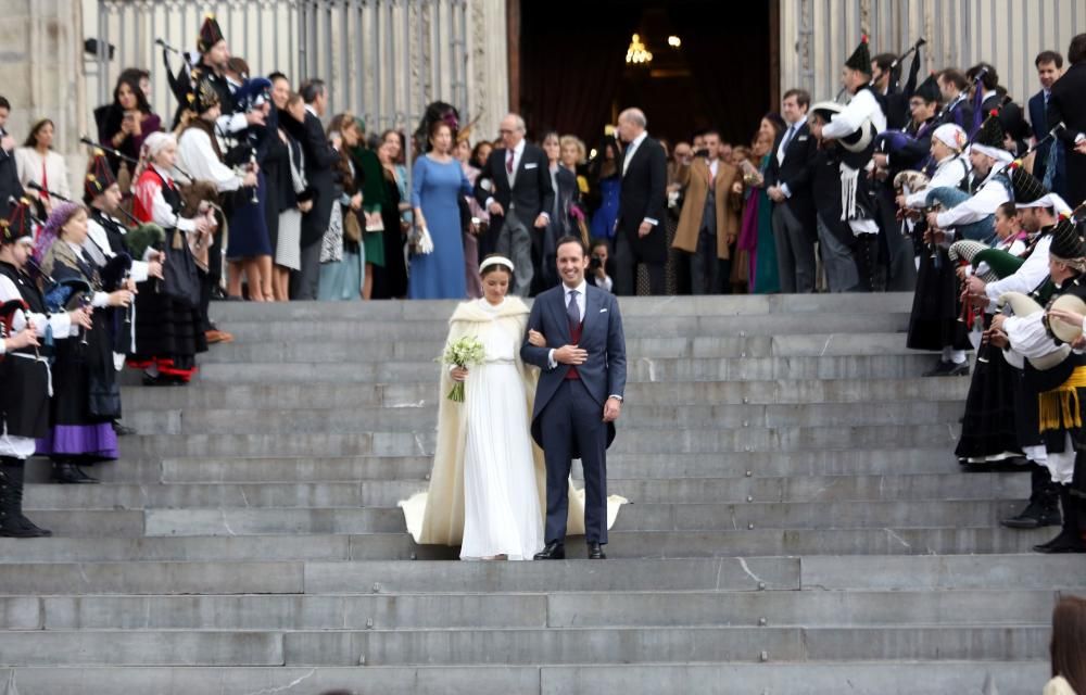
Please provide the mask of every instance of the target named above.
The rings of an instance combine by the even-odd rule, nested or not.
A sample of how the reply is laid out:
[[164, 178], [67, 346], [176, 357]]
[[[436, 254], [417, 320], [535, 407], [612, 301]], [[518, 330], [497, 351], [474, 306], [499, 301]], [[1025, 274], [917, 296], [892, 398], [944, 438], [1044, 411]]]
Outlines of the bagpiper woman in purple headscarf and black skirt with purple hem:
[[136, 287], [128, 280], [113, 292], [103, 291], [104, 267], [84, 251], [86, 241], [87, 208], [80, 203], [62, 203], [49, 215], [35, 247], [42, 273], [73, 290], [60, 301], [65, 306], [89, 307], [93, 320], [93, 328], [83, 332], [80, 340], [56, 345], [50, 428], [38, 440], [37, 454], [52, 459], [53, 479], [61, 483], [98, 482], [80, 466], [117, 457], [113, 420], [121, 416], [121, 402], [113, 363], [112, 314], [104, 309], [127, 308]]

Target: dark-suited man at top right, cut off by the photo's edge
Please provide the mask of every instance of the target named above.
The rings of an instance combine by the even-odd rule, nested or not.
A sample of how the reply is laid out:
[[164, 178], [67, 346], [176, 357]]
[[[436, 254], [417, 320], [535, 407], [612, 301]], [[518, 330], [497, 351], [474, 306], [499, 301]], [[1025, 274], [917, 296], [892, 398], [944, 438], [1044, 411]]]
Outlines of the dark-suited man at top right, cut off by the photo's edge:
[[1071, 39], [1068, 49], [1071, 67], [1052, 85], [1048, 100], [1048, 127], [1064, 124], [1060, 132], [1066, 162], [1066, 201], [1075, 207], [1086, 200], [1086, 34]]

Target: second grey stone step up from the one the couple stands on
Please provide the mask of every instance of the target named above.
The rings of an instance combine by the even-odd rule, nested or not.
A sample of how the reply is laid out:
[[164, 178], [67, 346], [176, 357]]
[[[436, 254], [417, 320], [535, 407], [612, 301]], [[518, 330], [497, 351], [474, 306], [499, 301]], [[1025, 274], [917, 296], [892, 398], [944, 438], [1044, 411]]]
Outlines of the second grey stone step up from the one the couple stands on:
[[[1023, 495], [1024, 497], [1025, 495]], [[797, 529], [833, 530], [954, 529], [995, 525], [1018, 511], [1024, 500], [938, 502], [819, 502], [740, 504], [632, 504], [623, 507], [616, 532], [738, 531]], [[102, 513], [109, 514], [109, 513]], [[144, 511], [146, 534], [156, 535], [279, 535], [290, 533], [397, 533], [403, 513], [395, 507], [371, 508], [223, 508]], [[37, 514], [42, 522], [63, 513]], [[64, 533], [63, 526], [53, 531]], [[90, 531], [93, 533], [93, 531]], [[65, 533], [67, 535], [67, 533]]]

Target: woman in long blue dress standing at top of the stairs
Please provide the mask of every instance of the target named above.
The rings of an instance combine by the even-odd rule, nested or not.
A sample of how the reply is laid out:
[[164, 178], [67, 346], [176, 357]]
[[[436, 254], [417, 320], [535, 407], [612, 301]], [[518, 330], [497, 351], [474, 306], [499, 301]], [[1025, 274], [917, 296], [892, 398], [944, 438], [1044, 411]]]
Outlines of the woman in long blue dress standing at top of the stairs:
[[412, 256], [407, 299], [463, 300], [464, 239], [459, 199], [471, 194], [471, 182], [453, 157], [453, 129], [444, 121], [430, 126], [427, 153], [415, 161], [412, 178], [412, 207], [415, 224], [433, 242], [430, 253]]

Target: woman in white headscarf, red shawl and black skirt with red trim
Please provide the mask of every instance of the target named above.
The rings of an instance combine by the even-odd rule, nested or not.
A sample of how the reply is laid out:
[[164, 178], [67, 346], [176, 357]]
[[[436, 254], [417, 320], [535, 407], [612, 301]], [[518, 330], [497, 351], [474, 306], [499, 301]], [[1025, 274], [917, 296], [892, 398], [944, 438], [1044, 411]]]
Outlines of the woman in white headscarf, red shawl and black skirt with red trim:
[[180, 215], [181, 194], [171, 174], [176, 159], [176, 138], [153, 132], [137, 167], [132, 216], [163, 228], [166, 254], [166, 279], [136, 298], [136, 350], [128, 364], [143, 369], [147, 386], [188, 383], [197, 370], [197, 354], [207, 351], [200, 279], [190, 249], [207, 248], [215, 218], [211, 208], [194, 218]]

